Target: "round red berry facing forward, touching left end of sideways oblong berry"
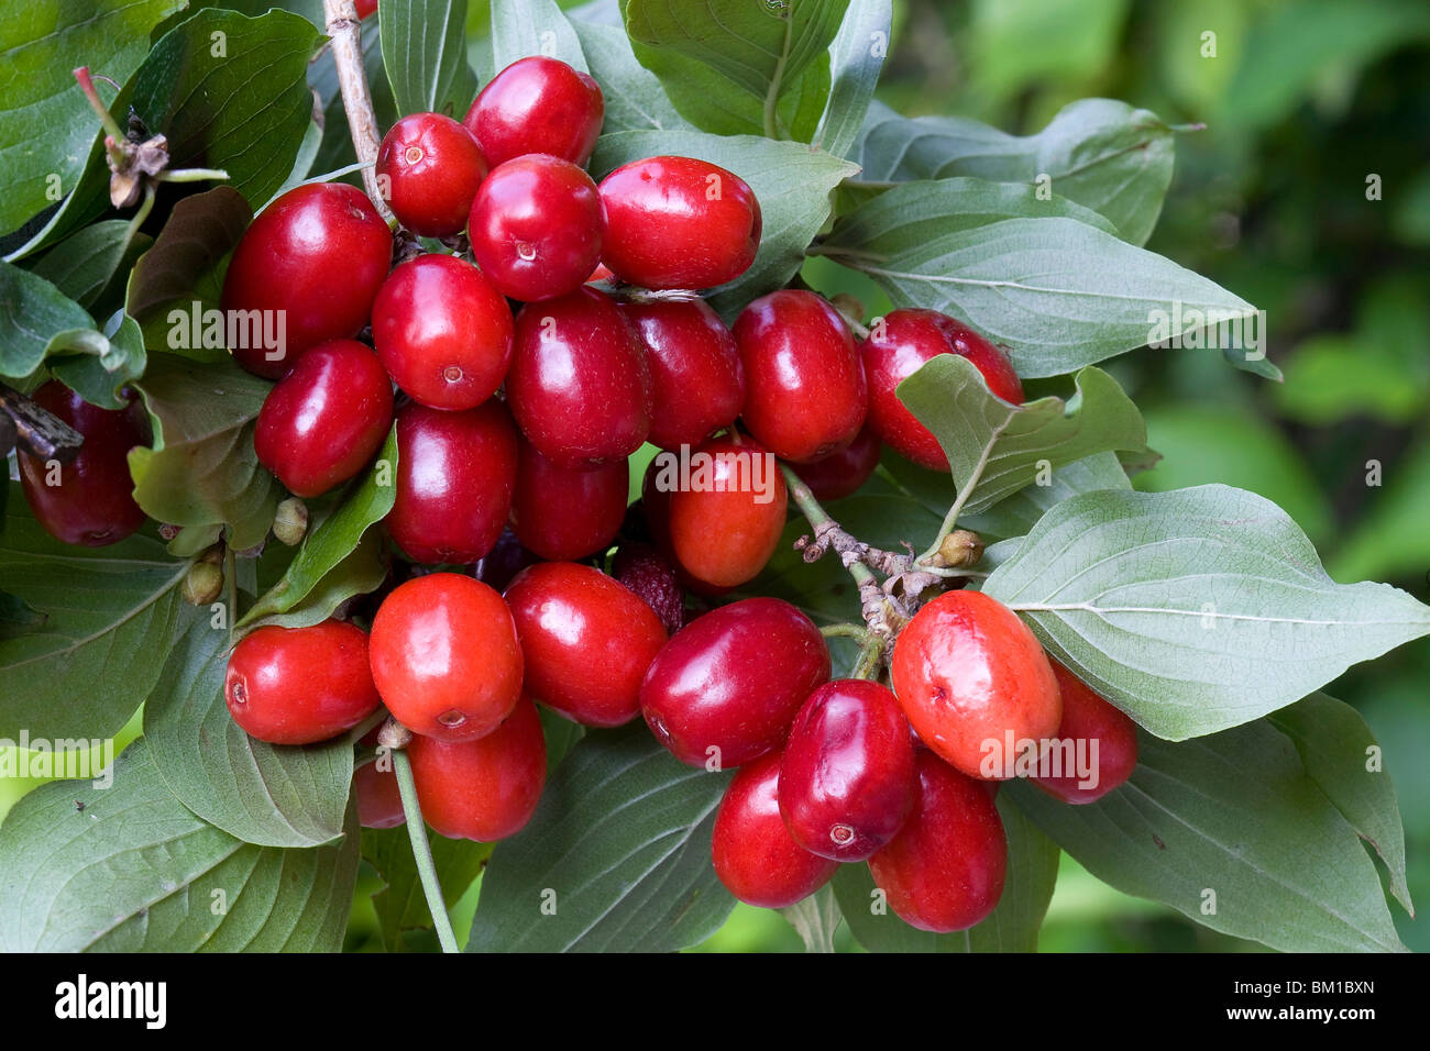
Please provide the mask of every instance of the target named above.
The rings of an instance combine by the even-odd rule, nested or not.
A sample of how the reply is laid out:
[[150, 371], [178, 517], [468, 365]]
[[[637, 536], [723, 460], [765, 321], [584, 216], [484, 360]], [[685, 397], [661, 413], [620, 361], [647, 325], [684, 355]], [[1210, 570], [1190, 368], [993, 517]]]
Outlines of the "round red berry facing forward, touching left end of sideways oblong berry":
[[503, 296], [531, 303], [581, 287], [601, 260], [601, 196], [583, 169], [545, 153], [492, 169], [468, 220], [472, 257]]

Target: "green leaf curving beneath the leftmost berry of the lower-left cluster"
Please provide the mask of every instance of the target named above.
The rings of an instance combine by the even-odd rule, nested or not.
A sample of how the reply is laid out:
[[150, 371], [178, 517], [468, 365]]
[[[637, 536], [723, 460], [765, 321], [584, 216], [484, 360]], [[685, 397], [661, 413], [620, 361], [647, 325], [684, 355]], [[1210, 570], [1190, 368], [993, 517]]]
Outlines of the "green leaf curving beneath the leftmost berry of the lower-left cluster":
[[209, 609], [180, 615], [144, 704], [144, 738], [179, 801], [262, 847], [317, 847], [343, 834], [353, 749], [345, 738], [285, 748], [255, 741], [229, 715], [229, 632]]

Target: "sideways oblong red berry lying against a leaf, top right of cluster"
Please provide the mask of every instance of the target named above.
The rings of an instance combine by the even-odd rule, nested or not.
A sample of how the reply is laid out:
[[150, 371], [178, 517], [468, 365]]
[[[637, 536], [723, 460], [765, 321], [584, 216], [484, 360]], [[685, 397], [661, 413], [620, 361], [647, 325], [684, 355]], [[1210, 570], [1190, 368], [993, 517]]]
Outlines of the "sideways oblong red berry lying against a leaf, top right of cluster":
[[601, 262], [646, 289], [735, 280], [759, 250], [759, 202], [734, 172], [694, 157], [646, 157], [601, 182]]

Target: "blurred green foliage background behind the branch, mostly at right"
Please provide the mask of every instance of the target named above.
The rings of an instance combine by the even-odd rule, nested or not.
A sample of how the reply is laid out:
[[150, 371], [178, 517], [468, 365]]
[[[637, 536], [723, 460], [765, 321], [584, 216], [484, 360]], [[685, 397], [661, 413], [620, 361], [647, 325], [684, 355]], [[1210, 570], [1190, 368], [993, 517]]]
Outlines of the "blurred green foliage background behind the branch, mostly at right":
[[[858, 0], [855, 0], [858, 1]], [[578, 6], [569, 0], [563, 7]], [[1424, 0], [895, 0], [879, 97], [909, 116], [1040, 130], [1087, 96], [1173, 124], [1177, 172], [1148, 247], [1266, 310], [1277, 385], [1205, 350], [1141, 352], [1111, 370], [1164, 459], [1135, 483], [1227, 482], [1296, 518], [1331, 576], [1430, 601], [1430, 4]], [[485, 24], [473, 3], [470, 24]], [[1367, 197], [1379, 183], [1379, 200]], [[828, 265], [807, 277], [872, 286]], [[1380, 485], [1367, 485], [1379, 463]], [[1386, 749], [1410, 889], [1430, 902], [1430, 639], [1347, 672]], [[120, 744], [139, 729], [139, 719]], [[0, 781], [0, 815], [33, 782]], [[378, 945], [359, 877], [349, 948]], [[473, 888], [456, 908], [465, 938]], [[1391, 904], [1413, 949], [1430, 919]], [[838, 944], [851, 948], [841, 928]], [[702, 949], [799, 951], [785, 921], [739, 907]], [[1067, 857], [1044, 951], [1257, 949], [1100, 884]]]

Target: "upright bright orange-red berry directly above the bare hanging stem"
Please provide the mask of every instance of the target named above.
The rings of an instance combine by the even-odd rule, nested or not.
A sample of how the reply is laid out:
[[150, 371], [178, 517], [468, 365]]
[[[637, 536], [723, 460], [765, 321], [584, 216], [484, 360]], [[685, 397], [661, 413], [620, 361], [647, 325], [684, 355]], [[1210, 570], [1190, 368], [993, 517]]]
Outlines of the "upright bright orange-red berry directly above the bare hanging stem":
[[395, 588], [372, 621], [370, 653], [383, 704], [413, 734], [475, 741], [521, 696], [512, 613], [470, 576], [429, 573]]

